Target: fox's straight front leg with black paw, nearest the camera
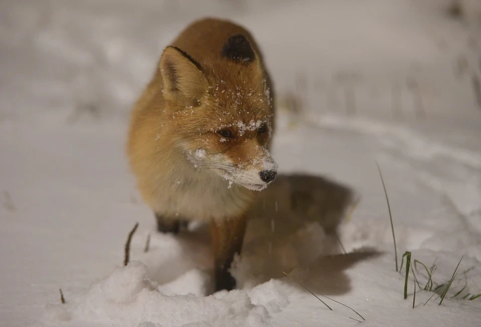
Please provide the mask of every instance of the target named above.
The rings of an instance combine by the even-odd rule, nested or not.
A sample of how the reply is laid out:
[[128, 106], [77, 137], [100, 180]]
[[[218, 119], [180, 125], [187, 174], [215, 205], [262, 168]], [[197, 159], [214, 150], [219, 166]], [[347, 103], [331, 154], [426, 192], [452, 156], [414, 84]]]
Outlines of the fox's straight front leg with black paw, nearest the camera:
[[245, 216], [210, 224], [210, 237], [214, 252], [215, 291], [231, 290], [235, 280], [229, 272], [235, 253], [240, 253], [246, 233]]

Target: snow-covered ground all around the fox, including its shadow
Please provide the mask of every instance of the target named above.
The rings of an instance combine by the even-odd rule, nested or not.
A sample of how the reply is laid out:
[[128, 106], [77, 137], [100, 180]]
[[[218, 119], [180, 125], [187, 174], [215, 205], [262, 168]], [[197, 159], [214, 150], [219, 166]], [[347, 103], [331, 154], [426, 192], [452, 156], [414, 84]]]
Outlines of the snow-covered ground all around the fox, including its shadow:
[[[468, 20], [449, 17], [448, 0], [4, 0], [0, 325], [478, 326], [481, 11], [461, 2]], [[207, 15], [246, 25], [265, 52], [283, 174], [253, 209], [239, 289], [211, 296], [205, 227], [156, 233], [124, 154], [162, 48]], [[417, 289], [412, 308], [412, 273], [403, 299], [375, 160], [399, 263], [405, 251], [436, 260], [435, 287], [464, 255], [440, 306]]]

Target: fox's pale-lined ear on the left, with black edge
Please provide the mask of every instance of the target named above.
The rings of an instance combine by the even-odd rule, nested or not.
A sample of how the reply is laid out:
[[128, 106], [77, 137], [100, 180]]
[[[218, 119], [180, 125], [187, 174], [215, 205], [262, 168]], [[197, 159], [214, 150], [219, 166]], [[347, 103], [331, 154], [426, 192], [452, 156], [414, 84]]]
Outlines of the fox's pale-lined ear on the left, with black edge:
[[160, 58], [164, 97], [196, 106], [208, 88], [200, 64], [177, 47], [165, 48]]

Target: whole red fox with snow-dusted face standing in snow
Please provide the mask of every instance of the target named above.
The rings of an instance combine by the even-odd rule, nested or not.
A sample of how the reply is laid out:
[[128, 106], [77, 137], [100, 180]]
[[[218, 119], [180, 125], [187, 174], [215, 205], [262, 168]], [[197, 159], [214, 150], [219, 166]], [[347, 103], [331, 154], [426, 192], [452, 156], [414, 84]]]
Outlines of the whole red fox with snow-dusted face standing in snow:
[[141, 196], [160, 232], [210, 223], [215, 290], [234, 288], [246, 214], [276, 178], [273, 99], [252, 35], [208, 18], [164, 49], [132, 110], [127, 152]]

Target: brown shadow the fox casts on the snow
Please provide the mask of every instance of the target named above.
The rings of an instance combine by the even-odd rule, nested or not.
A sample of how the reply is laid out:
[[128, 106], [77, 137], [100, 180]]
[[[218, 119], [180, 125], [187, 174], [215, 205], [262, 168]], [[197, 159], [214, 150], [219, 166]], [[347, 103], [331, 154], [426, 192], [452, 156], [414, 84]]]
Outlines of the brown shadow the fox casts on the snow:
[[[375, 255], [374, 251], [342, 254], [337, 230], [354, 200], [353, 190], [336, 181], [307, 174], [279, 175], [248, 214], [242, 255], [234, 258], [231, 267], [237, 288], [286, 277], [284, 272], [304, 271], [312, 291], [348, 292], [350, 281], [344, 271]], [[176, 253], [164, 253], [149, 265], [155, 281], [170, 283], [194, 268], [212, 270], [207, 225], [190, 226], [175, 239]], [[212, 285], [203, 289], [207, 295]]]

